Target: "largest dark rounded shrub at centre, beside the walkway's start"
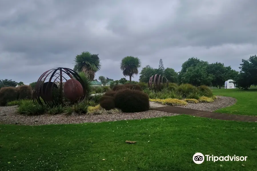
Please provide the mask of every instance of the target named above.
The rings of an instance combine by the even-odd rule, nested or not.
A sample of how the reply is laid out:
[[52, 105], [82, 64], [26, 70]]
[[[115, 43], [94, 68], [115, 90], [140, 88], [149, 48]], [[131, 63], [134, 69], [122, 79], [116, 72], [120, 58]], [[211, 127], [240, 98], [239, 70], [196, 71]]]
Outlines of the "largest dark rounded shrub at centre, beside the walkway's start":
[[147, 111], [150, 109], [149, 97], [143, 91], [121, 89], [115, 95], [115, 107], [125, 113]]

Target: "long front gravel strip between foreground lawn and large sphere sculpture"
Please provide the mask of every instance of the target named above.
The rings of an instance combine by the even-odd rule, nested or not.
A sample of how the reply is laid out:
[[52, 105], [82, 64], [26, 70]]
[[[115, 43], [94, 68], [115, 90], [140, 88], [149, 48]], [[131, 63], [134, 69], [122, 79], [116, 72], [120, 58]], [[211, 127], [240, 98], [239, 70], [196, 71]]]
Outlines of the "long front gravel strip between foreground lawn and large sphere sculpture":
[[163, 116], [175, 116], [178, 114], [163, 111], [148, 110], [138, 113], [115, 113], [103, 115], [38, 115], [26, 116], [16, 112], [17, 106], [0, 107], [0, 123], [16, 125], [47, 125], [47, 124], [69, 124], [86, 122], [104, 122], [130, 119], [146, 119]]

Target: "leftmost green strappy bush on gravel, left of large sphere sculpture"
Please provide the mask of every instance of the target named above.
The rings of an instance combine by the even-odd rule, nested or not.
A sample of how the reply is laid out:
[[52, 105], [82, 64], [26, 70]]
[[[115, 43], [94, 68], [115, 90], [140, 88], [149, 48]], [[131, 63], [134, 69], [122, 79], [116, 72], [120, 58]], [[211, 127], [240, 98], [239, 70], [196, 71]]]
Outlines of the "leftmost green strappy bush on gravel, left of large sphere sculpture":
[[18, 107], [18, 113], [26, 115], [41, 115], [47, 111], [46, 105], [39, 105], [32, 100], [21, 101]]

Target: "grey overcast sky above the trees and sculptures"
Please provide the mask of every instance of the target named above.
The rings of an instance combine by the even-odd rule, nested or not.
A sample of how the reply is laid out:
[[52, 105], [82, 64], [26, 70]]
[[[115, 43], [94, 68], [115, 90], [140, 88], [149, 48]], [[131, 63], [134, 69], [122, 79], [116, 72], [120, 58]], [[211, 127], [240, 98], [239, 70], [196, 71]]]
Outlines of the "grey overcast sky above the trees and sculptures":
[[162, 58], [177, 72], [191, 57], [239, 71], [257, 54], [256, 7], [256, 0], [1, 0], [0, 79], [35, 82], [51, 68], [73, 69], [82, 51], [99, 54], [96, 78], [123, 78], [125, 56], [154, 68]]

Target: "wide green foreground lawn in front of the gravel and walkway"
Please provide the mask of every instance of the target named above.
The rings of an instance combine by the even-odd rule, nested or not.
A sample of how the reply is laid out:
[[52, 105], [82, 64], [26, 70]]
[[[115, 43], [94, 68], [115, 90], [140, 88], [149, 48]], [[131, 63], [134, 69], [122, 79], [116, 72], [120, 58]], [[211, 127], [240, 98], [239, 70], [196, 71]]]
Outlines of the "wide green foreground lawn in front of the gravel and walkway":
[[[0, 170], [257, 170], [256, 129], [257, 123], [188, 115], [70, 125], [0, 125]], [[126, 144], [126, 140], [137, 142]], [[195, 164], [196, 152], [248, 158], [246, 162]]]

